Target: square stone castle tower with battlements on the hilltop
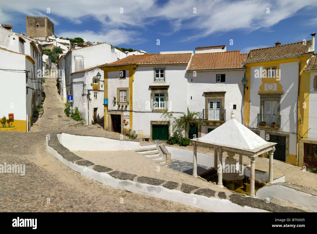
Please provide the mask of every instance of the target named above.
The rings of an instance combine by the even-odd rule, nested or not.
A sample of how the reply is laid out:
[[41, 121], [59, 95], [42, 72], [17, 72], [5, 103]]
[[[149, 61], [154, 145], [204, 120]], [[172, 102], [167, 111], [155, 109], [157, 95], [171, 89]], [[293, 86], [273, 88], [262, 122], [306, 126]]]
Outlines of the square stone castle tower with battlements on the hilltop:
[[25, 16], [26, 35], [31, 37], [47, 37], [54, 35], [54, 23], [48, 17]]

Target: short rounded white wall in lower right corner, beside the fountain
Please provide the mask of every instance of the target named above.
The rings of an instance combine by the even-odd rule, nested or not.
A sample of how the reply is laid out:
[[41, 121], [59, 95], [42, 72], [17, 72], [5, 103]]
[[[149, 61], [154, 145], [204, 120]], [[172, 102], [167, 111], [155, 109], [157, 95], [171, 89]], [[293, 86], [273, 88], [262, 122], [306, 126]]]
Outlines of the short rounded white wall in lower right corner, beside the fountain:
[[298, 191], [296, 189], [274, 184], [271, 186], [264, 186], [256, 192], [256, 197], [265, 200], [266, 198], [276, 198], [290, 204], [306, 208], [308, 210], [317, 212], [317, 197]]

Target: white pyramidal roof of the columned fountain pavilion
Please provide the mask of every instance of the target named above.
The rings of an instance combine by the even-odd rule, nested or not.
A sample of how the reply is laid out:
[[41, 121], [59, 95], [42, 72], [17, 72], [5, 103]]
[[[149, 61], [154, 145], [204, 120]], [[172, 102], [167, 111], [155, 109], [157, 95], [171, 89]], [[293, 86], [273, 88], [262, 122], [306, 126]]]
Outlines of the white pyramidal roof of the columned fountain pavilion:
[[251, 150], [269, 143], [234, 118], [229, 119], [207, 135], [197, 138], [197, 141]]

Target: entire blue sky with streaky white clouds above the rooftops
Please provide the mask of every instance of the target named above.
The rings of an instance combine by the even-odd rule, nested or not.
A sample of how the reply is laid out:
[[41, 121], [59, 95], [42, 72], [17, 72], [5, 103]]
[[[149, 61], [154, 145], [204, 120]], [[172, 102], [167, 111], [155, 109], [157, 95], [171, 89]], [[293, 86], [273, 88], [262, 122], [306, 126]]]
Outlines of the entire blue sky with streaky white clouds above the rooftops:
[[317, 33], [316, 9], [315, 0], [13, 0], [2, 2], [0, 22], [26, 33], [25, 16], [47, 16], [56, 36], [147, 53], [223, 44], [227, 50], [248, 53], [276, 41], [310, 40], [310, 34]]

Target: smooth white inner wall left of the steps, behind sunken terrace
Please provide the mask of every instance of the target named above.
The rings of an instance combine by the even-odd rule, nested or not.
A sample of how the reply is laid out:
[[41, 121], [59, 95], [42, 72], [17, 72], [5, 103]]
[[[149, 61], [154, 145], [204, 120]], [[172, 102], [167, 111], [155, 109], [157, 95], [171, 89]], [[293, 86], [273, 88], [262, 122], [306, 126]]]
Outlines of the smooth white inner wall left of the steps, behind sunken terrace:
[[140, 149], [140, 142], [136, 141], [121, 141], [97, 136], [77, 136], [66, 133], [57, 134], [57, 137], [59, 142], [70, 151]]

